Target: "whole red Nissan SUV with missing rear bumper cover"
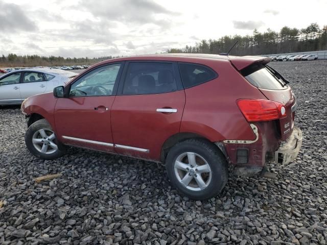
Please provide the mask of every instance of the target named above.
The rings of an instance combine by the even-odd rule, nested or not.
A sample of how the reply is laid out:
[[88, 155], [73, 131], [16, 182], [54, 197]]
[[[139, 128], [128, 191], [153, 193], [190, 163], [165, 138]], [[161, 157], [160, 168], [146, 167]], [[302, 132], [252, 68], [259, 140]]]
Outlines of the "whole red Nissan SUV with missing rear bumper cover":
[[201, 54], [103, 61], [24, 101], [27, 148], [48, 160], [73, 145], [162, 162], [184, 195], [211, 198], [228, 164], [251, 176], [298, 154], [295, 96], [269, 61]]

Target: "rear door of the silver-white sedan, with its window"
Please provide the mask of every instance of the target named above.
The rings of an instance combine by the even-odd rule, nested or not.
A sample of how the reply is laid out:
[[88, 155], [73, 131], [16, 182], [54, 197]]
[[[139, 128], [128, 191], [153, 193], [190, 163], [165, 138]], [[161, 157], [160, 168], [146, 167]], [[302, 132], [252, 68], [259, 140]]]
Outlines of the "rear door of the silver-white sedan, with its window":
[[42, 72], [25, 71], [20, 83], [20, 96], [22, 100], [35, 95], [44, 93], [46, 90], [46, 79]]

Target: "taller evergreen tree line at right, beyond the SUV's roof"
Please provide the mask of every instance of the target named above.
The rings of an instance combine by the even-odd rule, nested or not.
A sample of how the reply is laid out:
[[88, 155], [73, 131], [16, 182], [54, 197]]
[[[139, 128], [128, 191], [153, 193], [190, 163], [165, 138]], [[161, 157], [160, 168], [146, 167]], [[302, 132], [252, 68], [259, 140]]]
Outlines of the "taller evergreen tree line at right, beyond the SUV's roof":
[[238, 41], [230, 52], [231, 55], [265, 55], [293, 52], [327, 50], [327, 25], [320, 29], [317, 23], [311, 23], [307, 28], [297, 29], [283, 27], [275, 32], [267, 29], [261, 33], [254, 29], [252, 35], [224, 36], [219, 39], [209, 39], [196, 42], [194, 46], [171, 48], [168, 53], [226, 53]]

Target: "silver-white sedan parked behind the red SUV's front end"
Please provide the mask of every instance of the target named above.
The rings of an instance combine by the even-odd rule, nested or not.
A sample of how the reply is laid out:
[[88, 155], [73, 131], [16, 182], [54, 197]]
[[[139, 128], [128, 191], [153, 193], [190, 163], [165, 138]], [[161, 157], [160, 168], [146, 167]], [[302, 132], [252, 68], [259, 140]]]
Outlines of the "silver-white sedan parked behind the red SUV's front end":
[[50, 68], [29, 68], [12, 71], [0, 77], [0, 105], [19, 105], [27, 97], [52, 92], [77, 73]]

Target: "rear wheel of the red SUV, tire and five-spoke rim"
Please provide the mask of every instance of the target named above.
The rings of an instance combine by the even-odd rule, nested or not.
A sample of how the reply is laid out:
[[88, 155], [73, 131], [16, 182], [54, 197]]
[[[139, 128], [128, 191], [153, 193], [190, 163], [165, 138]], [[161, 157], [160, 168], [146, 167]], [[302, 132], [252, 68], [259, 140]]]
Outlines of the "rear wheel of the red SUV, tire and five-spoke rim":
[[[192, 158], [195, 165], [190, 163]], [[174, 145], [168, 152], [166, 168], [172, 186], [193, 200], [215, 197], [228, 178], [224, 155], [211, 142], [203, 139], [189, 139]], [[188, 184], [183, 184], [182, 180]]]

